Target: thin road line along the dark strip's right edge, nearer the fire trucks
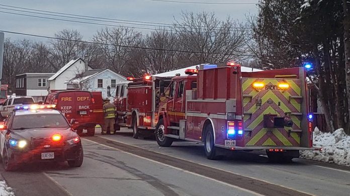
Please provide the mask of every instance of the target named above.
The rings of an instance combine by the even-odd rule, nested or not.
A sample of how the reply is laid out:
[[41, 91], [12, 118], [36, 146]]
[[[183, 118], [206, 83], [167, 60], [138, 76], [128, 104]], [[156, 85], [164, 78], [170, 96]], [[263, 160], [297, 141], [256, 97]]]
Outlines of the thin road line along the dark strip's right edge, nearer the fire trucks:
[[[104, 138], [104, 139], [108, 139], [110, 141], [115, 141], [115, 142], [119, 142], [119, 143], [122, 143], [122, 144], [125, 144], [125, 145], [129, 145], [129, 146], [133, 146], [133, 147], [137, 147], [137, 148], [140, 148], [140, 149], [144, 149], [144, 150], [148, 150], [148, 151], [151, 151], [152, 150], [149, 150], [149, 149], [146, 149], [146, 148], [141, 148], [139, 146], [135, 146], [135, 145], [131, 145], [131, 144], [127, 144], [127, 143], [124, 143], [124, 142], [120, 142], [120, 141], [117, 141], [117, 140], [112, 140], [112, 139], [109, 139], [107, 137], [101, 137], [101, 138]], [[91, 141], [91, 140], [89, 140]], [[94, 141], [92, 141], [94, 142]], [[96, 142], [98, 143], [98, 142]], [[101, 144], [101, 143], [98, 143], [98, 144]], [[104, 144], [101, 144], [101, 145], [104, 145]], [[109, 146], [110, 147], [110, 146]], [[122, 150], [121, 150], [122, 151]], [[125, 152], [125, 151], [123, 151]], [[206, 165], [206, 164], [202, 164], [202, 163], [198, 163], [198, 162], [194, 162], [194, 161], [191, 161], [191, 160], [187, 160], [187, 159], [184, 159], [184, 158], [179, 158], [179, 157], [176, 157], [176, 156], [172, 156], [172, 155], [169, 155], [169, 154], [165, 154], [165, 153], [162, 153], [162, 152], [158, 152], [158, 151], [155, 151], [156, 153], [159, 153], [159, 154], [162, 154], [162, 155], [165, 155], [165, 156], [169, 156], [169, 157], [172, 157], [172, 158], [177, 158], [177, 159], [180, 159], [180, 160], [184, 160], [184, 161], [188, 161], [188, 162], [192, 162], [192, 163], [195, 163], [195, 164], [198, 164], [198, 165], [202, 165], [202, 166], [206, 166], [206, 167], [210, 167], [210, 168], [213, 168], [212, 166], [210, 165]], [[126, 153], [130, 153], [130, 152], [126, 152]], [[132, 153], [130, 153], [132, 154]], [[138, 155], [136, 155], [138, 156]], [[262, 156], [266, 156], [266, 155], [262, 155]], [[266, 156], [268, 157], [268, 156]], [[144, 157], [143, 157], [144, 158]], [[152, 160], [154, 161], [154, 160]], [[161, 164], [164, 164], [164, 163], [161, 163]], [[165, 164], [167, 165], [167, 164]], [[168, 166], [171, 166], [171, 165], [168, 165]], [[181, 168], [179, 168], [181, 169]], [[218, 169], [218, 170], [221, 170], [221, 171], [224, 171], [224, 172], [228, 172], [228, 173], [232, 173], [232, 174], [235, 174], [235, 175], [240, 175], [242, 176], [242, 174], [239, 174], [239, 173], [235, 173], [235, 172], [232, 172], [232, 171], [228, 171], [228, 170], [225, 170], [225, 169], [220, 169], [220, 168], [215, 168], [215, 169]], [[191, 172], [191, 171], [189, 171]], [[200, 174], [198, 174], [200, 175]], [[269, 184], [274, 184], [274, 185], [277, 185], [277, 186], [281, 186], [281, 187], [284, 187], [284, 188], [287, 188], [287, 189], [291, 189], [291, 190], [294, 190], [294, 191], [297, 191], [297, 192], [301, 192], [301, 193], [304, 193], [304, 194], [309, 194], [309, 195], [315, 195], [315, 194], [312, 194], [312, 193], [309, 193], [309, 192], [305, 192], [305, 191], [302, 191], [302, 190], [297, 190], [297, 189], [294, 189], [294, 188], [291, 188], [291, 187], [288, 187], [288, 186], [284, 186], [284, 185], [280, 185], [280, 184], [275, 184], [274, 182], [271, 182], [271, 181], [267, 181], [267, 180], [264, 180], [264, 179], [259, 179], [259, 178], [256, 178], [256, 177], [251, 177], [251, 176], [245, 176], [245, 177], [248, 177], [248, 178], [251, 178], [251, 179], [255, 179], [255, 180], [259, 180], [259, 181], [263, 181], [263, 182], [266, 182], [266, 183], [269, 183]], [[210, 178], [211, 179], [211, 178]], [[216, 179], [213, 179], [213, 180], [216, 180]], [[222, 183], [226, 183], [226, 182], [222, 182]], [[232, 184], [231, 184], [232, 185]], [[232, 185], [234, 186], [234, 185]], [[244, 189], [244, 188], [243, 188]]]

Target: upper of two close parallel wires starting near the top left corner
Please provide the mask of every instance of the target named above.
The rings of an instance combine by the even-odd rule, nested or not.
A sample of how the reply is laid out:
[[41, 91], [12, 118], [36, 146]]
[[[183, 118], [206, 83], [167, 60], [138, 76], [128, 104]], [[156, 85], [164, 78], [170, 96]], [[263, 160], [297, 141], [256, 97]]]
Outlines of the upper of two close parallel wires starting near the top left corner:
[[[67, 15], [67, 16], [75, 16], [75, 17], [84, 17], [84, 18], [91, 18], [91, 19], [103, 19], [103, 20], [110, 20], [106, 22], [111, 22], [112, 21], [122, 21], [122, 22], [133, 22], [133, 23], [144, 23], [144, 24], [157, 24], [157, 25], [168, 25], [172, 26], [173, 24], [169, 23], [156, 23], [156, 22], [145, 22], [145, 21], [131, 21], [131, 20], [121, 20], [121, 19], [111, 19], [111, 18], [102, 18], [102, 17], [92, 17], [92, 16], [84, 16], [84, 15], [74, 15], [74, 14], [68, 14], [68, 13], [59, 13], [59, 12], [50, 12], [50, 11], [44, 11], [44, 10], [36, 10], [36, 9], [29, 9], [29, 8], [23, 8], [23, 7], [16, 7], [16, 6], [9, 6], [9, 5], [4, 5], [0, 4], [0, 6], [4, 7], [9, 7], [9, 8], [17, 8], [17, 9], [22, 9], [22, 10], [31, 10], [31, 11], [37, 11], [37, 12], [43, 12], [43, 13], [51, 13], [51, 14], [59, 14], [59, 15]], [[87, 20], [87, 19], [86, 19]], [[181, 25], [181, 26], [188, 26], [188, 25]], [[202, 26], [204, 27], [204, 26]], [[209, 27], [209, 28], [220, 28], [220, 27]], [[250, 28], [241, 28], [241, 27], [230, 27], [230, 29], [247, 29], [249, 30]]]

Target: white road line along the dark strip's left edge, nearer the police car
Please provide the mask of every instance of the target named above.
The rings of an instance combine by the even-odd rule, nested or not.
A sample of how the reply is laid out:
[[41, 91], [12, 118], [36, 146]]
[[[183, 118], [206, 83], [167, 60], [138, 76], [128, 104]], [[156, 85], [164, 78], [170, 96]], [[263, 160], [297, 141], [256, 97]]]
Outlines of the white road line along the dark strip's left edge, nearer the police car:
[[[111, 147], [111, 146], [108, 146], [108, 145], [105, 145], [105, 144], [102, 144], [102, 143], [99, 143], [99, 142], [96, 142], [96, 141], [92, 141], [92, 140], [90, 140], [90, 139], [85, 139], [85, 138], [82, 138], [82, 139], [83, 139], [83, 140], [88, 140], [88, 141], [90, 141], [90, 142], [93, 142], [93, 143], [96, 143], [96, 144], [99, 144], [99, 145], [102, 145], [102, 146], [105, 146], [105, 147], [108, 147], [108, 148], [111, 148], [111, 149], [118, 150], [118, 151], [120, 151], [120, 152], [124, 152], [124, 153], [129, 154], [129, 155], [132, 155], [132, 156], [136, 156], [136, 157], [138, 157], [138, 158], [142, 158], [142, 159], [145, 159], [145, 160], [148, 160], [148, 161], [151, 161], [151, 162], [154, 162], [154, 163], [158, 163], [158, 164], [161, 164], [161, 165], [164, 165], [164, 166], [173, 168], [173, 169], [177, 169], [177, 170], [180, 170], [180, 171], [184, 171], [184, 172], [190, 173], [190, 174], [192, 174], [192, 175], [196, 175], [196, 176], [203, 177], [203, 178], [206, 178], [206, 179], [209, 179], [209, 180], [212, 180], [212, 181], [215, 181], [215, 182], [218, 182], [218, 183], [227, 185], [227, 186], [231, 186], [231, 187], [233, 187], [233, 188], [236, 188], [236, 189], [239, 189], [239, 190], [242, 190], [242, 191], [245, 191], [245, 192], [254, 194], [254, 195], [262, 196], [262, 194], [259, 194], [259, 193], [257, 193], [257, 192], [254, 192], [254, 191], [251, 191], [251, 190], [248, 190], [248, 189], [245, 189], [245, 188], [241, 188], [241, 187], [239, 187], [239, 186], [235, 186], [235, 185], [232, 185], [232, 184], [223, 182], [223, 181], [219, 181], [219, 180], [217, 180], [217, 179], [213, 179], [213, 178], [210, 178], [210, 177], [207, 177], [207, 176], [198, 174], [198, 173], [194, 173], [194, 172], [189, 171], [189, 170], [185, 170], [185, 169], [182, 169], [182, 168], [179, 168], [179, 167], [174, 167], [174, 166], [172, 166], [172, 165], [168, 165], [168, 164], [165, 164], [165, 163], [162, 163], [162, 162], [159, 162], [159, 161], [155, 161], [155, 160], [152, 160], [152, 159], [149, 159], [149, 158], [145, 158], [145, 157], [142, 157], [142, 156], [139, 156], [139, 155], [130, 153], [130, 152], [126, 152], [126, 151], [121, 150], [121, 149], [119, 149], [119, 148]], [[112, 141], [112, 140], [111, 140], [111, 141]], [[127, 144], [127, 145], [128, 145], [128, 144]], [[143, 149], [143, 148], [141, 148], [141, 149]], [[176, 158], [176, 157], [174, 157], [174, 158]], [[182, 160], [184, 160], [184, 159], [182, 159]]]

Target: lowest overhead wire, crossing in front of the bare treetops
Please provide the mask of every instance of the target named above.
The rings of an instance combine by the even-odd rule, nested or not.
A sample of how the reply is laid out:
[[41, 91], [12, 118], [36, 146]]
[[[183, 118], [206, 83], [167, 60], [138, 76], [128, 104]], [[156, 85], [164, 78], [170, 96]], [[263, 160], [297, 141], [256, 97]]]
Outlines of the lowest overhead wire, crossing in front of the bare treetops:
[[41, 36], [41, 35], [26, 34], [26, 33], [12, 32], [12, 31], [3, 31], [3, 30], [0, 30], [0, 32], [9, 33], [9, 34], [24, 35], [24, 36], [39, 37], [39, 38], [47, 38], [47, 39], [53, 39], [53, 40], [63, 40], [63, 41], [71, 41], [71, 42], [78, 42], [78, 43], [86, 43], [86, 44], [97, 44], [97, 45], [105, 45], [105, 46], [113, 46], [113, 47], [118, 46], [118, 47], [123, 47], [123, 48], [168, 51], [168, 52], [182, 52], [182, 53], [196, 53], [196, 54], [210, 54], [210, 55], [230, 55], [230, 56], [253, 57], [253, 55], [246, 55], [246, 54], [205, 53], [205, 52], [197, 52], [197, 51], [182, 51], [182, 50], [171, 50], [171, 49], [147, 48], [147, 47], [141, 47], [141, 46], [125, 46], [125, 45], [114, 45], [114, 44], [107, 44], [107, 43], [82, 41], [82, 40], [70, 40], [70, 39], [64, 39], [64, 38], [55, 38], [55, 37], [49, 37], [49, 36]]

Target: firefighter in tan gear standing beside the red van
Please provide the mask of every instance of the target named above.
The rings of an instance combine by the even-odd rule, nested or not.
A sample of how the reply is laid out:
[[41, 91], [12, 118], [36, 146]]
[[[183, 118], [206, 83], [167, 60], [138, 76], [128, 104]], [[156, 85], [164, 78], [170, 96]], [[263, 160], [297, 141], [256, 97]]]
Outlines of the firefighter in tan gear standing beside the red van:
[[115, 119], [116, 106], [110, 103], [110, 99], [105, 99], [105, 104], [103, 104], [103, 112], [105, 114], [105, 124], [102, 128], [102, 134], [106, 135], [108, 127], [110, 127], [110, 134], [114, 134], [114, 119]]

